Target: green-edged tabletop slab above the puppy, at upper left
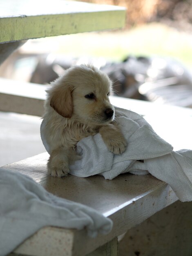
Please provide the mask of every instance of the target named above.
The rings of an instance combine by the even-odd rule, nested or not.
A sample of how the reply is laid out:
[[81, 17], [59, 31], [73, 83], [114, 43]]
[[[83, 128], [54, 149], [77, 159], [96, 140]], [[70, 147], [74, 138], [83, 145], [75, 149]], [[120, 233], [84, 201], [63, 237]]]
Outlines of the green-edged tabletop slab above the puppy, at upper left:
[[64, 0], [0, 1], [0, 43], [117, 29], [124, 24], [123, 7]]

